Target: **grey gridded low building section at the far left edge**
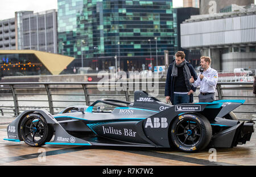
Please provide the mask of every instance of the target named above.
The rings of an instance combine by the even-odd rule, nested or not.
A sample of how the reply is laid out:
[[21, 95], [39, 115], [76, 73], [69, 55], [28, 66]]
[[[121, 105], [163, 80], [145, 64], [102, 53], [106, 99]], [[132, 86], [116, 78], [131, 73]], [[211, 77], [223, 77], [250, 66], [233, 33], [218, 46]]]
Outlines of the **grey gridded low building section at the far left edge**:
[[15, 19], [0, 21], [0, 50], [15, 49]]

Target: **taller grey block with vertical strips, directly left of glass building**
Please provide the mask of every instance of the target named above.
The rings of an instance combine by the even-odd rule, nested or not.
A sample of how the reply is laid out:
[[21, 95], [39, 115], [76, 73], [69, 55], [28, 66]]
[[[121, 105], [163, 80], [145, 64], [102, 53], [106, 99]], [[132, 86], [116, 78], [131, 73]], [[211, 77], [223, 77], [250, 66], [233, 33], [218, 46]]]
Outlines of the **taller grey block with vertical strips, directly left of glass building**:
[[57, 11], [15, 12], [16, 49], [57, 53]]

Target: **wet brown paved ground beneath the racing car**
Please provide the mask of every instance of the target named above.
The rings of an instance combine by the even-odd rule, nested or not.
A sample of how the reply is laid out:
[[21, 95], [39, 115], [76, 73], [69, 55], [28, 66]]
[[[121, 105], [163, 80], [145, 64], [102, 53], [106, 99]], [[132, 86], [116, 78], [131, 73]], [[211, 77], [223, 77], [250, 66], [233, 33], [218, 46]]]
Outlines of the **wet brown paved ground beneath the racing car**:
[[[256, 134], [245, 145], [216, 149], [216, 162], [210, 162], [213, 151], [183, 153], [177, 150], [142, 147], [88, 147], [45, 145], [30, 147], [24, 142], [3, 140], [7, 124], [14, 117], [0, 117], [0, 166], [5, 165], [93, 165], [93, 166], [201, 166], [255, 165]], [[211, 160], [212, 161], [212, 160]]]

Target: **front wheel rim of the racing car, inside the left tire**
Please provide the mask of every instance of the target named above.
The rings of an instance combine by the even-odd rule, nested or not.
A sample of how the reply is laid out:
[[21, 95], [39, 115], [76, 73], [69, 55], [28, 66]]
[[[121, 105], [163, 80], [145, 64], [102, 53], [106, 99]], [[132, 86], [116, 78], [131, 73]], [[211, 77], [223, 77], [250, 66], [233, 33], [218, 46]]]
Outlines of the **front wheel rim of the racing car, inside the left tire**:
[[23, 125], [23, 137], [27, 141], [35, 144], [45, 136], [45, 128], [46, 126], [41, 119], [37, 117], [30, 117]]

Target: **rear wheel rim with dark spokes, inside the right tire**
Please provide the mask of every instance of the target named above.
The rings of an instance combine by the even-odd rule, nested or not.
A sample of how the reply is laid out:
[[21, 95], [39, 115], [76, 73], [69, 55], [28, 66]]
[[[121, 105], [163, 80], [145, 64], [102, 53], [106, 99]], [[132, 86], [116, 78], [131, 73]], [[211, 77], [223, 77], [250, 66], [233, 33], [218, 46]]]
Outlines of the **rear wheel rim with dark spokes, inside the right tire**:
[[176, 125], [175, 136], [183, 146], [195, 146], [201, 138], [200, 124], [192, 119], [182, 119]]

